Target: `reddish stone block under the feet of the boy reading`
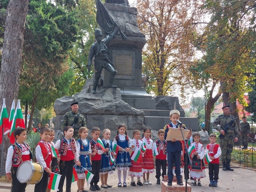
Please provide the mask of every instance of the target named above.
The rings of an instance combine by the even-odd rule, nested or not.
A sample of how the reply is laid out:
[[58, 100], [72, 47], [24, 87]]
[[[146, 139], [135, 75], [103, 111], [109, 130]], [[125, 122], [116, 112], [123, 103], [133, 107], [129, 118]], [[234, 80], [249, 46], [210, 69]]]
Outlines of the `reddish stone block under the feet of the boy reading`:
[[[182, 180], [182, 179], [181, 179]], [[173, 177], [173, 185], [168, 186], [168, 177], [167, 175], [164, 176], [162, 184], [161, 184], [161, 192], [183, 192], [186, 191], [185, 183], [183, 182], [184, 185], [177, 185], [177, 179], [176, 176]], [[187, 192], [191, 192], [191, 186], [187, 185]]]

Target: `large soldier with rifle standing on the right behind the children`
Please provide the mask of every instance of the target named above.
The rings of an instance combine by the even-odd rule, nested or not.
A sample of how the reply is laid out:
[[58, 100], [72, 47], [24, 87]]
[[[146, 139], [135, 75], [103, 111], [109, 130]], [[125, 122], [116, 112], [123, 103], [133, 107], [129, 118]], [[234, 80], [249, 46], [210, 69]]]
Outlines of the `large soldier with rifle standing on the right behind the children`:
[[[224, 135], [224, 138], [220, 138], [220, 148], [221, 148], [221, 161], [223, 164], [223, 171], [229, 170], [234, 171], [234, 169], [230, 168], [231, 161], [231, 153], [233, 150], [234, 141], [238, 141], [238, 130], [236, 121], [233, 122], [231, 126], [229, 126], [228, 130], [225, 132], [223, 129], [226, 125], [234, 119], [232, 115], [229, 114], [229, 105], [222, 107], [223, 115], [219, 115], [217, 119], [215, 119], [212, 123], [213, 128], [220, 132], [220, 134]], [[220, 125], [220, 127], [218, 127]], [[235, 138], [235, 139], [234, 139]]]

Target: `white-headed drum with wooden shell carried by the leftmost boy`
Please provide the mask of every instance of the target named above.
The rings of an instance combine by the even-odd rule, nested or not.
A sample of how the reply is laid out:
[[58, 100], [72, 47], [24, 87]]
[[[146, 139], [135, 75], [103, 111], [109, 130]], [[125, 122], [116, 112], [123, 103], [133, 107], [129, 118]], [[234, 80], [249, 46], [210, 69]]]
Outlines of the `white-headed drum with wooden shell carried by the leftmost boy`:
[[42, 179], [43, 173], [43, 167], [39, 163], [23, 161], [17, 170], [17, 178], [21, 183], [36, 184]]

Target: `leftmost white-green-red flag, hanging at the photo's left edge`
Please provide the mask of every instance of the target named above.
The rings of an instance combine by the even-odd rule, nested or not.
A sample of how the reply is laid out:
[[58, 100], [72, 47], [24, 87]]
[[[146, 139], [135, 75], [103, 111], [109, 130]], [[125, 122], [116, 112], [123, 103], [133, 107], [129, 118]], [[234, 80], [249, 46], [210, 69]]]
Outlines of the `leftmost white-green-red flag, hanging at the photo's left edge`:
[[2, 144], [2, 139], [3, 139], [2, 134], [8, 133], [7, 132], [8, 130], [10, 130], [10, 123], [9, 123], [9, 118], [7, 114], [7, 109], [5, 106], [5, 98], [3, 98], [3, 106], [2, 106], [1, 116], [0, 116], [0, 144]]

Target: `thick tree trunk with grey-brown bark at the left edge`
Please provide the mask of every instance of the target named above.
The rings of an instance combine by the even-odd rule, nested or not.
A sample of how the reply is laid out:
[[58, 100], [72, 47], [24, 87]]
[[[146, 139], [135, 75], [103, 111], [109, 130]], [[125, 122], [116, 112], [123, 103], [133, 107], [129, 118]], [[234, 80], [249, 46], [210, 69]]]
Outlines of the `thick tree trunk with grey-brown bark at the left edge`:
[[[7, 111], [10, 111], [13, 99], [17, 100], [19, 92], [23, 37], [28, 14], [28, 3], [29, 0], [9, 0], [6, 10], [0, 72], [0, 106], [2, 105], [3, 98], [5, 98]], [[3, 152], [7, 154], [10, 140], [7, 135], [4, 138]], [[6, 155], [3, 158], [5, 159]]]

